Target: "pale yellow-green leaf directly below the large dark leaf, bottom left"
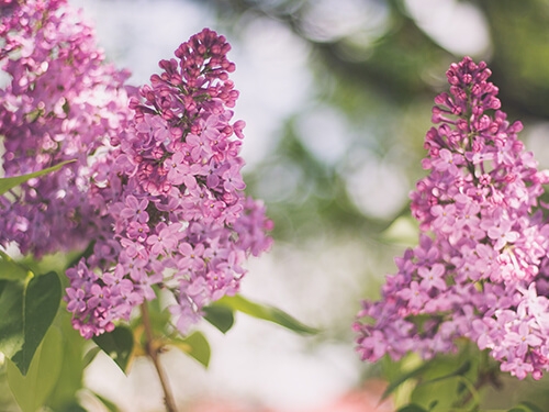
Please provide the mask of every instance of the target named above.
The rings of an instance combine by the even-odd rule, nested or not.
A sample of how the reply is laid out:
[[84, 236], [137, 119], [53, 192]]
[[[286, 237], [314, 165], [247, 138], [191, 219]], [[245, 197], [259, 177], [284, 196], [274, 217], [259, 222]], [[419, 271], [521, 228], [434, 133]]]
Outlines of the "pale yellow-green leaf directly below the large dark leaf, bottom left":
[[8, 361], [8, 382], [23, 412], [36, 412], [59, 378], [63, 361], [61, 334], [51, 327], [23, 376], [18, 365]]

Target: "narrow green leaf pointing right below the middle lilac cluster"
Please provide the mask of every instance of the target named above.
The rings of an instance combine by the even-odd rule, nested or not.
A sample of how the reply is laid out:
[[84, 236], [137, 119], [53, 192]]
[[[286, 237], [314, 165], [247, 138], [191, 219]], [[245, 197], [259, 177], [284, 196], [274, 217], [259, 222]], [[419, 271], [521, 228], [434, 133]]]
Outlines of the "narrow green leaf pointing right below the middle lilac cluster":
[[314, 327], [301, 323], [300, 321], [278, 308], [251, 302], [250, 300], [245, 299], [239, 294], [235, 294], [234, 297], [223, 297], [219, 301], [211, 304], [211, 307], [216, 305], [231, 308], [235, 311], [240, 311], [250, 316], [277, 323], [300, 334], [312, 335], [320, 332]]

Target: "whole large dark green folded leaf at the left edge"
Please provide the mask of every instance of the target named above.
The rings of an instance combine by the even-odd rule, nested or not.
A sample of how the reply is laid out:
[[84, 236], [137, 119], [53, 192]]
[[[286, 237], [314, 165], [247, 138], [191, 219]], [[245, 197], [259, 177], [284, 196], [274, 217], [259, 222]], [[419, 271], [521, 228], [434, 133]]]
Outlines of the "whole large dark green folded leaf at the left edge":
[[55, 272], [5, 281], [0, 294], [0, 350], [26, 375], [61, 299]]

